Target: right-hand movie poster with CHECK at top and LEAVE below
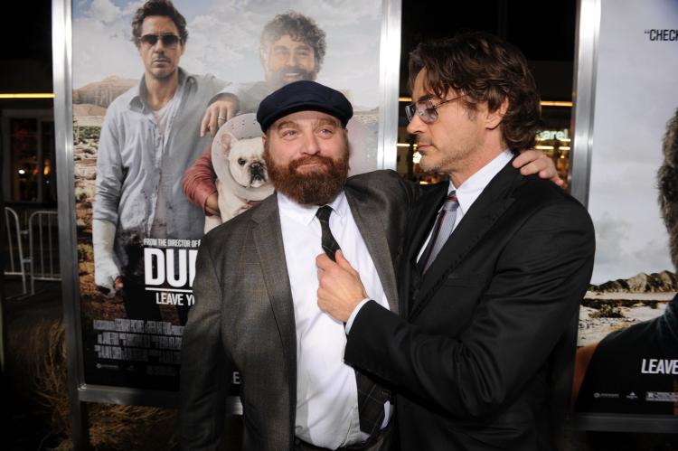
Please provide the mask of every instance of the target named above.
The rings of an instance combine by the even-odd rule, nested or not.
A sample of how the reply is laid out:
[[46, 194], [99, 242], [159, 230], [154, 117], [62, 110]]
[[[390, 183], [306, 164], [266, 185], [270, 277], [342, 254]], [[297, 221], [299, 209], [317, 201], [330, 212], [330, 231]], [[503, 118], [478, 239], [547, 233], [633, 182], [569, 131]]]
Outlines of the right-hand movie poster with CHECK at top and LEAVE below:
[[575, 409], [675, 416], [678, 284], [657, 172], [678, 108], [678, 3], [601, 5], [589, 190], [597, 250], [579, 315]]

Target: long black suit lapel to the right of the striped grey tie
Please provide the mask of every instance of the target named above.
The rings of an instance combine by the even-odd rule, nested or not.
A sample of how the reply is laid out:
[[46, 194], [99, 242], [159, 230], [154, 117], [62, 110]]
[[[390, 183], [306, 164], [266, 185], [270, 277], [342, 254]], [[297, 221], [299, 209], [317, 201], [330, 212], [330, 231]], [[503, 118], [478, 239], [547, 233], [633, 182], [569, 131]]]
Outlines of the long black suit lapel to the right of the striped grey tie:
[[440, 250], [438, 257], [421, 279], [418, 302], [410, 311], [410, 320], [419, 315], [436, 293], [447, 276], [464, 260], [466, 255], [492, 229], [514, 199], [514, 186], [522, 181], [522, 176], [511, 163], [496, 174], [476, 199], [464, 218], [457, 225], [449, 240]]

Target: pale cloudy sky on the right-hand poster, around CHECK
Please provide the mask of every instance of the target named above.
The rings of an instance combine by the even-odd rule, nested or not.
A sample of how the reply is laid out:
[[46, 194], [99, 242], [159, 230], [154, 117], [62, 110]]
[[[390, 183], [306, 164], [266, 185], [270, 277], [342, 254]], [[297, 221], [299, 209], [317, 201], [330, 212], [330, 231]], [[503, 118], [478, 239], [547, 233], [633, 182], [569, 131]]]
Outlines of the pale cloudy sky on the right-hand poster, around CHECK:
[[678, 108], [675, 0], [602, 3], [589, 211], [596, 226], [594, 284], [673, 270], [657, 202], [666, 123]]

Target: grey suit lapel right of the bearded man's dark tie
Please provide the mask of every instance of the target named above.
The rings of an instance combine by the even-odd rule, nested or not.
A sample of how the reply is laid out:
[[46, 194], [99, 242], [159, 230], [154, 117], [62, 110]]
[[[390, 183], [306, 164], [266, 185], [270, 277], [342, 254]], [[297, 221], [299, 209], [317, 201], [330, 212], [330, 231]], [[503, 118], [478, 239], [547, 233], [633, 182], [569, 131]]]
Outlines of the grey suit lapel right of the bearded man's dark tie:
[[369, 202], [357, 193], [353, 193], [349, 187], [344, 190], [346, 200], [351, 208], [353, 220], [360, 230], [360, 234], [365, 241], [367, 251], [372, 257], [374, 268], [377, 269], [377, 275], [381, 281], [384, 295], [389, 301], [391, 311], [398, 313], [398, 287], [396, 286], [395, 271], [393, 269], [394, 258], [392, 249], [389, 246], [387, 230], [384, 227], [381, 216], [375, 214], [377, 209], [373, 202]]

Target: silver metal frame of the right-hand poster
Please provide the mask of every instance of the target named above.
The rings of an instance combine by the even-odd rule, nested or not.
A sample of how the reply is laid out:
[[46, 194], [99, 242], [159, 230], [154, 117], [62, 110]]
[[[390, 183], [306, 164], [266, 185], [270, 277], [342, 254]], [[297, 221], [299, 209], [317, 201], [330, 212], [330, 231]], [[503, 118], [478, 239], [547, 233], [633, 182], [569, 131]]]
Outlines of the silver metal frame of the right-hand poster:
[[[584, 206], [589, 203], [591, 155], [593, 154], [598, 37], [603, 0], [579, 0], [575, 43], [571, 194]], [[678, 417], [623, 413], [579, 413], [570, 411], [566, 428], [572, 430], [675, 433]]]

